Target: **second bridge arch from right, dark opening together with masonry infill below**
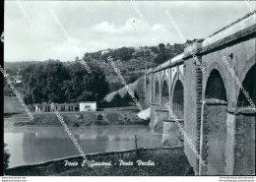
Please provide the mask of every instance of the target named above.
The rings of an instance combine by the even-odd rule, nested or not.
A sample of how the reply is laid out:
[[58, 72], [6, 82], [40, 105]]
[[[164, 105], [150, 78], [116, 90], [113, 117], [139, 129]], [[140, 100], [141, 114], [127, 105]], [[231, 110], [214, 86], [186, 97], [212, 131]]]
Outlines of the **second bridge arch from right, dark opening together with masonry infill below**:
[[226, 168], [227, 99], [223, 73], [215, 68], [211, 70], [207, 80], [203, 115], [202, 155], [203, 160], [208, 163], [205, 170], [207, 175], [225, 174]]

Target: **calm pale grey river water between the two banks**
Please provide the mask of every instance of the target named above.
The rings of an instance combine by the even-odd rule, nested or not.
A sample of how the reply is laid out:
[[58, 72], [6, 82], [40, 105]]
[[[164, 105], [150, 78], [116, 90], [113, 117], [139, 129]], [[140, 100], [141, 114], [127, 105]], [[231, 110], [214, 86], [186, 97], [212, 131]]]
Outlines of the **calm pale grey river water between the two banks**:
[[[114, 152], [138, 148], [159, 148], [160, 135], [149, 126], [70, 127], [71, 133], [85, 153]], [[8, 145], [9, 167], [79, 155], [62, 127], [6, 127], [4, 141]]]

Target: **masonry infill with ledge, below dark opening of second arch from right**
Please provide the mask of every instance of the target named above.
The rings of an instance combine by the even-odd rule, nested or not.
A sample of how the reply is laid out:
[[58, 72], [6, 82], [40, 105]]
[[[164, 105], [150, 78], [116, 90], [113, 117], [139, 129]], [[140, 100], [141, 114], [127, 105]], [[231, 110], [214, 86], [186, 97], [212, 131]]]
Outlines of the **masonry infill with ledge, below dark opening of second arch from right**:
[[206, 99], [201, 128], [201, 152], [206, 166], [200, 167], [201, 175], [222, 175], [226, 168], [226, 121], [227, 102], [219, 99]]

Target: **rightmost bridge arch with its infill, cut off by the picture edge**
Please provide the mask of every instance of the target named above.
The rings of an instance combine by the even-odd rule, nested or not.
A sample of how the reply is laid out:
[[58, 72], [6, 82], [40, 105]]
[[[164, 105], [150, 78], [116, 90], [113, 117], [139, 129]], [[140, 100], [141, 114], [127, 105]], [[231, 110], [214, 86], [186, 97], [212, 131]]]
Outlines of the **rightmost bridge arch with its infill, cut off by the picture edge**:
[[[255, 172], [255, 102], [256, 102], [256, 64], [248, 70], [244, 80], [243, 89], [239, 90], [235, 115], [234, 141], [234, 174], [247, 174]], [[246, 91], [246, 92], [245, 92]], [[253, 108], [253, 110], [248, 108]], [[242, 136], [242, 137], [239, 137]], [[240, 157], [240, 156], [243, 157]], [[241, 165], [242, 163], [242, 165]]]

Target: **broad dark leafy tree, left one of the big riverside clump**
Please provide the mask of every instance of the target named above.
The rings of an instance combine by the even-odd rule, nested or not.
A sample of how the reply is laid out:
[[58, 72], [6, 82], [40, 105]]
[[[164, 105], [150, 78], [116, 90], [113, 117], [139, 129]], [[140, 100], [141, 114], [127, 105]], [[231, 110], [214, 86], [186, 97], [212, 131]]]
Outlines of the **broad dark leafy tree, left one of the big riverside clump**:
[[63, 81], [70, 78], [68, 69], [60, 61], [48, 60], [42, 64], [29, 66], [23, 72], [26, 96], [32, 96], [32, 102], [65, 101], [62, 90]]

